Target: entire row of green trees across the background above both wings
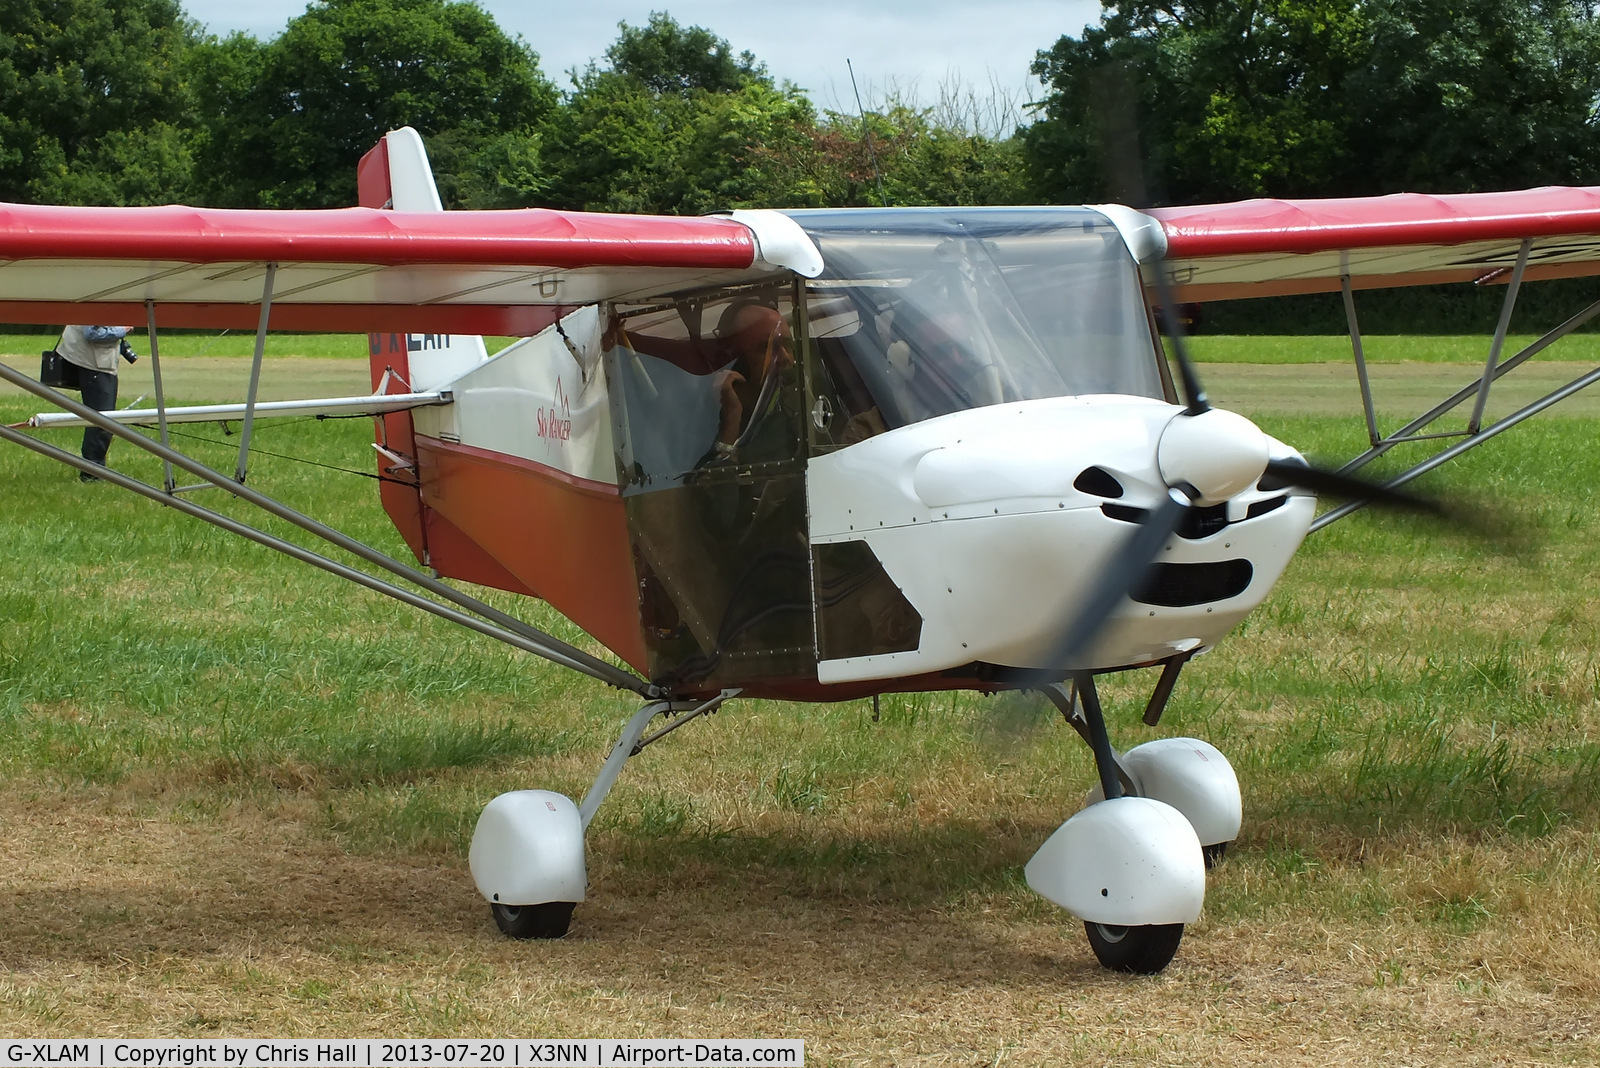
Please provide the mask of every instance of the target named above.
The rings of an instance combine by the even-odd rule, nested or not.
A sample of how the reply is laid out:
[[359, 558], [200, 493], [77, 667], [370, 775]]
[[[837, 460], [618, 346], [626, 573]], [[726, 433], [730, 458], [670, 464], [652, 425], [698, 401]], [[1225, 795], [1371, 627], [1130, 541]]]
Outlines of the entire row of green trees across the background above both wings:
[[560, 83], [467, 0], [318, 0], [267, 42], [208, 35], [179, 0], [6, 0], [0, 29], [8, 201], [344, 206], [355, 160], [402, 125], [453, 208], [1600, 184], [1587, 0], [1107, 2], [1046, 34], [1043, 91], [1003, 130], [909, 99], [819, 109], [666, 13]]

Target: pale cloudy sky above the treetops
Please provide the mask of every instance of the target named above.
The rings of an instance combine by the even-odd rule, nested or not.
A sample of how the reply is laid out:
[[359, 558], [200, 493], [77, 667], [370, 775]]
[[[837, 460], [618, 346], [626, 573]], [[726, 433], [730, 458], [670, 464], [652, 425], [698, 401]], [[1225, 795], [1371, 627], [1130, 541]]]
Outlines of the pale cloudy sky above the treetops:
[[[480, 0], [501, 29], [539, 53], [558, 85], [565, 72], [598, 59], [616, 40], [618, 22], [642, 26], [651, 10], [667, 10], [686, 26], [704, 26], [749, 50], [779, 78], [811, 94], [821, 107], [854, 110], [850, 72], [867, 106], [899, 90], [923, 104], [941, 86], [958, 85], [981, 101], [1021, 102], [1035, 93], [1027, 74], [1034, 53], [1062, 34], [1099, 19], [1099, 0]], [[280, 34], [306, 0], [184, 0], [184, 10], [213, 34]]]

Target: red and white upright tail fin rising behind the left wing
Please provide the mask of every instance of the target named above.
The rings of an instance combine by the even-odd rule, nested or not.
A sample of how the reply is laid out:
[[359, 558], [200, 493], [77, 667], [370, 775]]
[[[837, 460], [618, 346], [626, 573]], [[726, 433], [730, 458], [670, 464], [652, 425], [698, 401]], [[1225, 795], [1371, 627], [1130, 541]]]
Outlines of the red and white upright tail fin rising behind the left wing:
[[[363, 208], [443, 211], [422, 136], [410, 126], [390, 130], [362, 157], [355, 185]], [[392, 368], [413, 392], [435, 390], [488, 360], [477, 334], [368, 334], [373, 389]]]

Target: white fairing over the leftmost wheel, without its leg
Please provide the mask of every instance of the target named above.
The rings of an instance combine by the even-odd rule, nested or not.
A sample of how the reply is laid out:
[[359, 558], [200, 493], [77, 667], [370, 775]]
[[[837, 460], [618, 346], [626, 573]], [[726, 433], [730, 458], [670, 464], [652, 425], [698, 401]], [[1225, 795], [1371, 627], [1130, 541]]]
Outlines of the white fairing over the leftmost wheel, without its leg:
[[499, 905], [581, 902], [584, 820], [571, 798], [550, 790], [514, 790], [486, 806], [467, 852], [478, 892]]

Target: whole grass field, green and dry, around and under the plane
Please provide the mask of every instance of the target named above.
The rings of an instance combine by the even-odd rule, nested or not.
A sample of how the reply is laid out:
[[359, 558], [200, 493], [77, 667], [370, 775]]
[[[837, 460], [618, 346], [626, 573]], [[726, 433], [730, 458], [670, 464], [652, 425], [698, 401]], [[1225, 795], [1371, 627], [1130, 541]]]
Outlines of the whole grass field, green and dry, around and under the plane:
[[[278, 377], [365, 376], [333, 363]], [[224, 374], [194, 371], [189, 400]], [[1360, 448], [1354, 393], [1334, 417], [1275, 374], [1206, 368], [1307, 452]], [[0, 420], [27, 411], [0, 397]], [[1355, 516], [1190, 665], [1162, 727], [1139, 724], [1150, 678], [1109, 687], [1114, 740], [1205, 737], [1245, 790], [1203, 918], [1142, 980], [1102, 972], [1021, 878], [1093, 780], [1085, 748], [981, 695], [691, 724], [602, 809], [573, 934], [507, 942], [466, 870], [478, 809], [581, 795], [630, 700], [0, 449], [0, 1030], [760, 1034], [806, 1039], [813, 1065], [1600, 1062], [1595, 428], [1546, 416], [1432, 483], [1510, 510], [1533, 547]], [[194, 432], [230, 462], [237, 440]], [[259, 435], [371, 464], [358, 420]], [[125, 444], [112, 460], [160, 478]], [[251, 481], [402, 552], [365, 478], [259, 457]]]

